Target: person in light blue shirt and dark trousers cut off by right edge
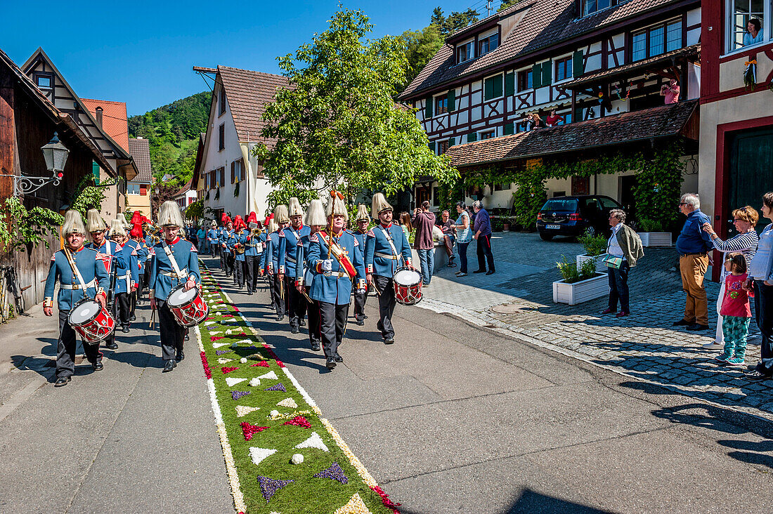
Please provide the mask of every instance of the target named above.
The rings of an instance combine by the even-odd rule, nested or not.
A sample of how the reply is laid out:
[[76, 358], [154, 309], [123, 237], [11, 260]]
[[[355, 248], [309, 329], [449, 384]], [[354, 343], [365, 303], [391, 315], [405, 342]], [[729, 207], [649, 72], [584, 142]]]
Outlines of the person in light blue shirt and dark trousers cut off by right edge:
[[[762, 216], [773, 220], [773, 192], [762, 196]], [[760, 362], [746, 374], [748, 380], [768, 380], [773, 376], [773, 223], [760, 233], [757, 253], [751, 259], [744, 289], [754, 288], [754, 321], [762, 335]]]

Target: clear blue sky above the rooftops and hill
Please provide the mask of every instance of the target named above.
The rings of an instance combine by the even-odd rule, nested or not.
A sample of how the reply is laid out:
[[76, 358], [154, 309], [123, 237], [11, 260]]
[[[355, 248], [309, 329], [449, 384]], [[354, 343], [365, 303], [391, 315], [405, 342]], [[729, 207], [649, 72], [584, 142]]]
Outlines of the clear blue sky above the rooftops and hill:
[[[5, 4], [5, 5], [3, 5]], [[374, 36], [427, 26], [485, 0], [346, 0], [363, 9]], [[499, 5], [498, 0], [492, 6]], [[322, 2], [30, 2], [2, 0], [0, 49], [21, 66], [42, 46], [83, 98], [125, 101], [128, 114], [208, 90], [192, 66], [218, 64], [278, 73], [276, 57], [322, 32], [337, 9]], [[45, 10], [42, 13], [41, 10]]]

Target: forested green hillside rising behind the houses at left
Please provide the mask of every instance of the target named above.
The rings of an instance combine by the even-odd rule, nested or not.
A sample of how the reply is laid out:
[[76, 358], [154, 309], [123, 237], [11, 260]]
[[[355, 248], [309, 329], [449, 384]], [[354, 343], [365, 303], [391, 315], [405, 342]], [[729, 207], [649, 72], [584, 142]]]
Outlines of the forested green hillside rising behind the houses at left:
[[209, 120], [211, 97], [205, 91], [129, 118], [129, 137], [150, 140], [155, 180], [169, 173], [182, 186], [191, 178], [199, 134], [206, 132]]

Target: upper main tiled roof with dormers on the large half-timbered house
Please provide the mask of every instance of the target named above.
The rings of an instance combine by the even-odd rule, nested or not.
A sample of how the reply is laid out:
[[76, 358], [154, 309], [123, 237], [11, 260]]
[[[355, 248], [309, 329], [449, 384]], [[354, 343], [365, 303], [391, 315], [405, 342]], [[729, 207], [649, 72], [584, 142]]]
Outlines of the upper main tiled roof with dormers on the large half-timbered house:
[[[465, 63], [455, 64], [454, 47], [446, 43], [398, 98], [414, 97], [419, 92], [441, 83], [482, 73], [487, 68], [516, 60], [519, 56], [526, 56], [594, 29], [677, 2], [679, 0], [629, 0], [579, 19], [575, 17], [575, 0], [535, 0], [532, 3], [517, 3], [494, 15], [499, 16], [500, 19], [507, 15], [523, 15], [509, 35], [502, 34], [503, 41], [497, 49]], [[461, 29], [461, 32], [470, 28]], [[452, 38], [459, 33], [460, 31], [455, 32]]]

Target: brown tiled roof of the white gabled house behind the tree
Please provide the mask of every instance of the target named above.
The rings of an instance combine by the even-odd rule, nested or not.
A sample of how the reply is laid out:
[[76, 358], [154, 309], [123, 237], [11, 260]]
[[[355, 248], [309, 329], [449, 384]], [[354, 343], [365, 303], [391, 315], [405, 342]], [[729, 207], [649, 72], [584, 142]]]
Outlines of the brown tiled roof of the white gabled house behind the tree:
[[239, 141], [264, 141], [271, 144], [273, 141], [261, 138], [261, 130], [265, 125], [261, 115], [266, 104], [274, 100], [277, 89], [289, 86], [288, 80], [281, 75], [228, 66], [217, 66], [217, 71], [223, 80]]

